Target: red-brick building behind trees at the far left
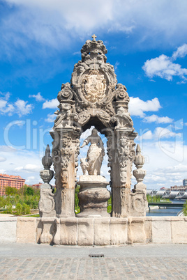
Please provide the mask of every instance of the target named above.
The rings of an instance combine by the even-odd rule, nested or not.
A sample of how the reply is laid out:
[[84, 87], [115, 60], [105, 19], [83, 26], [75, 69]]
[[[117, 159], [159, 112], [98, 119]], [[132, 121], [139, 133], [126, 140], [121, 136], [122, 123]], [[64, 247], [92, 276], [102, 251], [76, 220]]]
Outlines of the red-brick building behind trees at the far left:
[[25, 179], [20, 176], [0, 174], [0, 196], [5, 195], [5, 187], [20, 189], [24, 186]]

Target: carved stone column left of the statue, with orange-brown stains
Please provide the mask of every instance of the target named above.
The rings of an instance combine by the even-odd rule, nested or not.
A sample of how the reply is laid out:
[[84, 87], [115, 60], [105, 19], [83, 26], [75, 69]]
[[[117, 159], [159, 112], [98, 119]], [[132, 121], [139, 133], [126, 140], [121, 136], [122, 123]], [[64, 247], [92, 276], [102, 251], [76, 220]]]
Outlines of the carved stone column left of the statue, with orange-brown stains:
[[75, 217], [75, 177], [80, 130], [75, 127], [61, 127], [55, 129], [51, 135], [54, 139], [52, 157], [57, 187], [57, 217]]

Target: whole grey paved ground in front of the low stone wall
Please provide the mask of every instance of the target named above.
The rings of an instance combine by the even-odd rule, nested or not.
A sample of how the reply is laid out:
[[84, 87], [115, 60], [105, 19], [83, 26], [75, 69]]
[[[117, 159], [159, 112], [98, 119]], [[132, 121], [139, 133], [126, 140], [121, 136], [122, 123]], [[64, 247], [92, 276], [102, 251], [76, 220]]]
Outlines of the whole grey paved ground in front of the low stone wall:
[[0, 244], [0, 279], [187, 279], [186, 252], [187, 244], [99, 248]]

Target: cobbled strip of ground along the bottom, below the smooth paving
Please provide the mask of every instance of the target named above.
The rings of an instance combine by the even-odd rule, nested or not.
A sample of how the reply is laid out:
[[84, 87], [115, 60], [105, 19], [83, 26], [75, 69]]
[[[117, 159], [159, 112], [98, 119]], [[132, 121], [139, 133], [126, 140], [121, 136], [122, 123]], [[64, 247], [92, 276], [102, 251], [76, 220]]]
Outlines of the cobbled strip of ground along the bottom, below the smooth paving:
[[187, 279], [187, 258], [0, 258], [0, 279]]

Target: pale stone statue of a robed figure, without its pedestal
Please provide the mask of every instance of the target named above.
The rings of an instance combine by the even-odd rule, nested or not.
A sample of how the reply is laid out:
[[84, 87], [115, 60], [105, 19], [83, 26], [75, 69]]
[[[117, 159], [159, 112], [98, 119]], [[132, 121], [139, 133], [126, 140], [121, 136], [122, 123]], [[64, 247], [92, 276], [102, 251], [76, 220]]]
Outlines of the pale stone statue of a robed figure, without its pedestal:
[[80, 148], [88, 145], [89, 150], [87, 153], [87, 158], [82, 158], [80, 160], [80, 166], [82, 167], [82, 172], [86, 175], [87, 171], [89, 175], [100, 175], [100, 167], [103, 162], [103, 157], [105, 155], [105, 150], [103, 147], [103, 141], [101, 140], [100, 136], [98, 135], [98, 131], [96, 128], [93, 128], [91, 131], [91, 135], [84, 140], [84, 143]]

